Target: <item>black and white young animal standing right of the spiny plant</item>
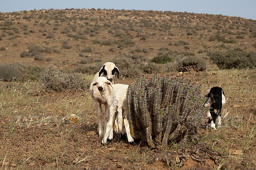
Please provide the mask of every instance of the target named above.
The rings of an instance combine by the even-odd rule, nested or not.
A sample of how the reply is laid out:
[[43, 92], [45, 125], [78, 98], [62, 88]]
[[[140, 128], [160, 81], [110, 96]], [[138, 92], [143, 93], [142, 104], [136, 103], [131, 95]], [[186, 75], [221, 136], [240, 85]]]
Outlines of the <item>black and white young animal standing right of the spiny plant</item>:
[[215, 122], [218, 117], [217, 127], [221, 127], [221, 108], [226, 104], [224, 91], [220, 87], [211, 88], [209, 94], [206, 95], [206, 107], [210, 107], [207, 112], [208, 124], [206, 128], [215, 128]]

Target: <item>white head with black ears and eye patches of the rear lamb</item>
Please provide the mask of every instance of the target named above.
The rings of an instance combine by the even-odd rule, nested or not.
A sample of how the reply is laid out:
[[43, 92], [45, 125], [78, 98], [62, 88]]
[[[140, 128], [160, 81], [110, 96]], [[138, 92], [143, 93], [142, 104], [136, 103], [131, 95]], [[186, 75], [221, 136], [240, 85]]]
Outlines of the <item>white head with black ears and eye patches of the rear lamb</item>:
[[115, 77], [115, 73], [117, 73], [117, 78], [119, 78], [119, 69], [116, 65], [113, 62], [106, 62], [100, 69], [99, 76], [105, 76], [112, 82]]

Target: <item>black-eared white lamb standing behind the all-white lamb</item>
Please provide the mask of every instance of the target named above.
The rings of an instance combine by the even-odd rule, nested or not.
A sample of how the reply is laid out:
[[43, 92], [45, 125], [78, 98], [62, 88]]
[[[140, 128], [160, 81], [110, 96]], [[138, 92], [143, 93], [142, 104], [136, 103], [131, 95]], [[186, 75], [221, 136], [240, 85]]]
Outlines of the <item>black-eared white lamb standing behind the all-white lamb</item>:
[[[109, 119], [109, 107], [107, 102], [102, 99], [102, 97], [99, 94], [99, 90], [97, 88], [93, 87], [93, 82], [99, 77], [99, 76], [105, 76], [107, 77], [107, 79], [109, 81], [112, 81], [112, 83], [114, 82], [114, 78], [115, 78], [115, 72], [117, 73], [117, 77], [119, 78], [119, 69], [116, 67], [116, 65], [113, 62], [106, 62], [102, 68], [100, 69], [100, 71], [98, 73], [95, 74], [93, 81], [90, 85], [90, 96], [93, 98], [94, 101], [94, 105], [97, 111], [97, 117], [98, 117], [98, 121], [99, 121], [99, 125], [98, 125], [98, 132], [99, 132], [99, 136], [102, 137], [103, 134], [105, 133], [105, 129], [106, 129], [106, 124], [103, 128], [103, 122], [102, 122], [102, 117], [103, 117], [103, 109], [102, 109], [102, 105], [105, 105], [105, 122], [108, 122]], [[118, 127], [117, 127], [117, 123], [115, 122], [115, 131], [118, 131]], [[111, 135], [113, 136], [113, 130], [111, 132]], [[121, 138], [124, 139], [125, 138], [125, 134], [124, 132], [121, 132]], [[111, 140], [108, 142], [111, 142]]]

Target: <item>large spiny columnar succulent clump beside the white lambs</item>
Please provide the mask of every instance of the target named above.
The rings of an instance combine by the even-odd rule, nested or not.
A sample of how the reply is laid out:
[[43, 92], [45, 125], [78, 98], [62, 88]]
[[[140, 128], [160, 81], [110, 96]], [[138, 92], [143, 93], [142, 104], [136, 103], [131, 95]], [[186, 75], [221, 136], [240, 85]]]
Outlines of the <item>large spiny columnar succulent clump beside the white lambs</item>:
[[138, 78], [127, 93], [131, 136], [150, 147], [167, 147], [169, 141], [194, 135], [209, 109], [200, 91], [200, 86], [181, 77]]

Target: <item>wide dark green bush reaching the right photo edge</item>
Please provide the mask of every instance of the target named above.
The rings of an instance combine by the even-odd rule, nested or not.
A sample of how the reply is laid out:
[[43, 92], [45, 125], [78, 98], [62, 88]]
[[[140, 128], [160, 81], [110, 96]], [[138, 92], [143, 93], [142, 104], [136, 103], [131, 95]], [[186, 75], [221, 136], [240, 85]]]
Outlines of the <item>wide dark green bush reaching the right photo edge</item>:
[[239, 48], [227, 52], [213, 51], [209, 53], [209, 57], [220, 69], [256, 67], [256, 54]]

